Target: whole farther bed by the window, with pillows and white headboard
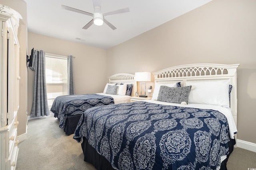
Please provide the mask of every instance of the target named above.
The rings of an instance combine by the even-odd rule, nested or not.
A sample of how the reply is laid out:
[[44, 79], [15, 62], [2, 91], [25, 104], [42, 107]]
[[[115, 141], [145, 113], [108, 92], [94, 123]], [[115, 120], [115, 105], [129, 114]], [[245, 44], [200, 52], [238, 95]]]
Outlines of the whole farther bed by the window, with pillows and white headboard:
[[50, 110], [54, 113], [54, 117], [58, 118], [59, 127], [66, 135], [71, 135], [86, 109], [130, 102], [130, 96], [134, 96], [133, 89], [136, 88], [134, 76], [134, 74], [119, 73], [108, 77], [109, 83], [106, 84], [103, 93], [58, 96]]

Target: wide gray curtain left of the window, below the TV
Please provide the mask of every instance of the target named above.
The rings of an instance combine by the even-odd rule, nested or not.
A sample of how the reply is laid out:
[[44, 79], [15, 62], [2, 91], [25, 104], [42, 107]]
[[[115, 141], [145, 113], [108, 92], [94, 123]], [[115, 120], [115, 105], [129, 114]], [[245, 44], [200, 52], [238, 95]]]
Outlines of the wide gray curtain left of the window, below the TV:
[[33, 52], [33, 66], [35, 70], [34, 81], [34, 98], [30, 117], [40, 117], [50, 115], [47, 91], [46, 91], [46, 79], [45, 79], [45, 64], [44, 64], [44, 51], [34, 50]]

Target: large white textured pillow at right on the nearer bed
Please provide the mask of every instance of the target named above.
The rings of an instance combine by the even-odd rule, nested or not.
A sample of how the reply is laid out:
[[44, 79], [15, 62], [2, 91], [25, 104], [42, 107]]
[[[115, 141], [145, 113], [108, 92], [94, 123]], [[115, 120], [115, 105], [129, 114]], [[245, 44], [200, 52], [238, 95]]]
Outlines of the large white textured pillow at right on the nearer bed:
[[186, 82], [192, 86], [188, 104], [210, 104], [229, 107], [229, 81]]

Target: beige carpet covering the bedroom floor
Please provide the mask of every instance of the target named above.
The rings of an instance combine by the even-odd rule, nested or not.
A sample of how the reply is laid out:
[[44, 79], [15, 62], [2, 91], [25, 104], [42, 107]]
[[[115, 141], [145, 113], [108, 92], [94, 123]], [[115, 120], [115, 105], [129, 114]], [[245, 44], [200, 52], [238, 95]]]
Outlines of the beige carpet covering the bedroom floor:
[[[28, 121], [28, 135], [19, 147], [17, 170], [95, 170], [84, 162], [80, 143], [58, 127], [51, 114]], [[228, 170], [256, 170], [256, 152], [235, 148], [230, 155]]]

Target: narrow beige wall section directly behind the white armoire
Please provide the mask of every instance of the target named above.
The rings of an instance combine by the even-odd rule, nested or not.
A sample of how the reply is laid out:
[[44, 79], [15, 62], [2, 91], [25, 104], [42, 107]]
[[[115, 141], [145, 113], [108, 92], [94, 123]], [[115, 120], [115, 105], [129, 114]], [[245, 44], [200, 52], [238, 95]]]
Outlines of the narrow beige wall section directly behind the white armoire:
[[18, 110], [18, 136], [26, 133], [26, 50], [27, 50], [27, 4], [23, 0], [0, 0], [0, 4], [8, 6], [20, 13], [18, 39], [20, 43], [20, 107]]

